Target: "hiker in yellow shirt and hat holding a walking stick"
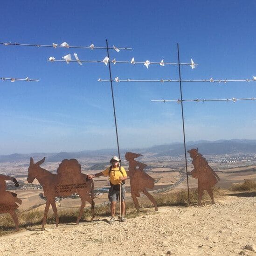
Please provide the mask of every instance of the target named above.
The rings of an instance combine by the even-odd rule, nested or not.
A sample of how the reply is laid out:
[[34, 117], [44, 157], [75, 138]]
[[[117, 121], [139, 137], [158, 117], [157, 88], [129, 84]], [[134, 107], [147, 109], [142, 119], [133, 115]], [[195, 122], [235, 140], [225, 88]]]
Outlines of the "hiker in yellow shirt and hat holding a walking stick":
[[109, 176], [111, 187], [109, 189], [109, 201], [111, 202], [111, 219], [109, 223], [113, 223], [115, 221], [115, 212], [116, 212], [116, 202], [120, 201], [121, 209], [120, 209], [120, 221], [126, 221], [125, 215], [125, 180], [127, 180], [127, 173], [125, 168], [120, 166], [121, 160], [114, 156], [111, 158], [110, 163], [111, 166], [106, 168], [101, 173], [96, 173], [92, 175], [88, 175], [89, 179], [93, 179], [99, 176]]

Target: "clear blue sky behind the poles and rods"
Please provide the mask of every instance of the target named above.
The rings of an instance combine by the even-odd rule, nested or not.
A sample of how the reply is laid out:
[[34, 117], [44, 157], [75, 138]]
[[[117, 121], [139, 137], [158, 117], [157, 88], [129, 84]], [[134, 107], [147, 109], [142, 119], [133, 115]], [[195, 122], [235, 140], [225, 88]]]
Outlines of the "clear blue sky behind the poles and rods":
[[[184, 79], [256, 76], [256, 2], [243, 1], [5, 1], [0, 42], [104, 46], [111, 59], [199, 63]], [[116, 148], [108, 67], [46, 62], [77, 53], [102, 60], [105, 50], [0, 45], [0, 154]], [[178, 79], [176, 66], [112, 65], [120, 79]], [[151, 99], [180, 98], [179, 83], [114, 83], [120, 148], [182, 141], [181, 106]], [[183, 83], [183, 98], [256, 97], [256, 83]], [[184, 103], [187, 140], [251, 138], [256, 102]]]

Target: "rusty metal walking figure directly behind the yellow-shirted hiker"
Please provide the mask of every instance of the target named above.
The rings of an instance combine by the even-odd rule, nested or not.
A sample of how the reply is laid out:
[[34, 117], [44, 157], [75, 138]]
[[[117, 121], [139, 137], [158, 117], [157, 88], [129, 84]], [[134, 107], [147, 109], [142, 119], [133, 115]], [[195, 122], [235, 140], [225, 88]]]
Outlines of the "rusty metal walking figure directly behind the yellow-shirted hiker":
[[141, 154], [136, 154], [132, 152], [126, 152], [125, 159], [129, 162], [129, 167], [127, 171], [127, 175], [130, 178], [130, 186], [131, 186], [131, 197], [133, 199], [134, 205], [136, 207], [137, 213], [139, 212], [138, 200], [137, 197], [140, 196], [140, 192], [145, 194], [150, 201], [152, 201], [155, 210], [157, 211], [157, 203], [153, 196], [149, 194], [146, 188], [152, 189], [155, 184], [155, 180], [150, 177], [147, 173], [143, 171], [143, 169], [147, 166], [141, 162], [134, 160], [137, 157], [142, 156]]

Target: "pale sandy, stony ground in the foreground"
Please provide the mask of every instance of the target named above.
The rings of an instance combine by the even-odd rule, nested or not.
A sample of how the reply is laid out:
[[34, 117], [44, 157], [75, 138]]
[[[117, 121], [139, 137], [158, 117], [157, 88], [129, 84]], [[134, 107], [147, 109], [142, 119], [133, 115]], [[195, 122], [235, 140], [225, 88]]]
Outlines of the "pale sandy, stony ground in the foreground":
[[216, 202], [143, 210], [121, 224], [96, 217], [21, 231], [0, 237], [0, 255], [256, 255], [256, 196]]

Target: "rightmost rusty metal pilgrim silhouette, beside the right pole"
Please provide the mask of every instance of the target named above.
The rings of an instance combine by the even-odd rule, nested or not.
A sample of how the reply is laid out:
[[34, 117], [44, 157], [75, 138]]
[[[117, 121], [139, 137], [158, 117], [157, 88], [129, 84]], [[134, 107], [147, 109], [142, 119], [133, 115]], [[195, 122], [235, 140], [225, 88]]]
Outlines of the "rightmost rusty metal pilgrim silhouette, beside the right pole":
[[198, 149], [191, 149], [187, 151], [193, 159], [192, 164], [194, 169], [191, 171], [193, 178], [198, 179], [198, 205], [201, 205], [203, 191], [206, 190], [211, 197], [214, 204], [214, 196], [212, 187], [220, 180], [219, 176], [214, 172], [208, 161], [198, 153]]

